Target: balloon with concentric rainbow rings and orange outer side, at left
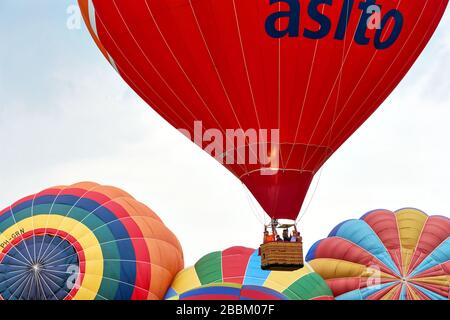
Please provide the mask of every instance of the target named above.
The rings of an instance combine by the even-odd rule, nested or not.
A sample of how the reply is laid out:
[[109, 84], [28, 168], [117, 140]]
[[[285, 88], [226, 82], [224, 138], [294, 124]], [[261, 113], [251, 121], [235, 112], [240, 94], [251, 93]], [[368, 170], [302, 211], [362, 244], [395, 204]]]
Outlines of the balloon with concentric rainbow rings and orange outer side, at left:
[[175, 235], [114, 187], [54, 187], [0, 211], [0, 299], [161, 299], [181, 269]]

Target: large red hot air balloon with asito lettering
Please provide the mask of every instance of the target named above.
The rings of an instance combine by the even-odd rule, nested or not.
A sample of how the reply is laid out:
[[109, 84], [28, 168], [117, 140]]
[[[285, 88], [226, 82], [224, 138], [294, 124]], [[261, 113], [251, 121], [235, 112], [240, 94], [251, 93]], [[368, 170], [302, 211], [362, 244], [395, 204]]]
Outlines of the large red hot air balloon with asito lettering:
[[224, 165], [270, 217], [294, 220], [314, 174], [405, 76], [447, 3], [79, 0], [103, 54], [173, 126], [279, 130], [279, 161]]

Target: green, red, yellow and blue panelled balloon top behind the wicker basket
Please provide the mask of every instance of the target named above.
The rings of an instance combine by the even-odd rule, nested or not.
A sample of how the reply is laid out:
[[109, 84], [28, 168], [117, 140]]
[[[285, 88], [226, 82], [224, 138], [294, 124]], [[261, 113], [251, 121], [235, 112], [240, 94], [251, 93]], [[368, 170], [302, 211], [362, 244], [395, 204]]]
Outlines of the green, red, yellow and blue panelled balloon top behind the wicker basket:
[[166, 299], [328, 300], [332, 292], [309, 265], [292, 272], [266, 271], [258, 250], [232, 247], [181, 271]]

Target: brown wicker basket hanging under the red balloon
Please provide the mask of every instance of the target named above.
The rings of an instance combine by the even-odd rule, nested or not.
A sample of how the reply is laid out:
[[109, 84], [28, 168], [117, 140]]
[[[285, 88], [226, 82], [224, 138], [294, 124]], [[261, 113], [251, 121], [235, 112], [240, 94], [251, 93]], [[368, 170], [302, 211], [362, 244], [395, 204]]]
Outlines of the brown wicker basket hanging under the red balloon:
[[301, 242], [268, 242], [262, 244], [260, 250], [263, 270], [292, 271], [303, 268]]

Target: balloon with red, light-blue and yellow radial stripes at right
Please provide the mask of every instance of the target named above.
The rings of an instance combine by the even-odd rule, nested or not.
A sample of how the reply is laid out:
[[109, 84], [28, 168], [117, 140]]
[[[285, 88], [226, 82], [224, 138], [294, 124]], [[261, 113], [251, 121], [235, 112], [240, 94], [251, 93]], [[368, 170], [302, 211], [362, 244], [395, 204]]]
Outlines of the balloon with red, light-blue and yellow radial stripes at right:
[[339, 224], [306, 260], [336, 299], [450, 299], [450, 219], [371, 211]]

